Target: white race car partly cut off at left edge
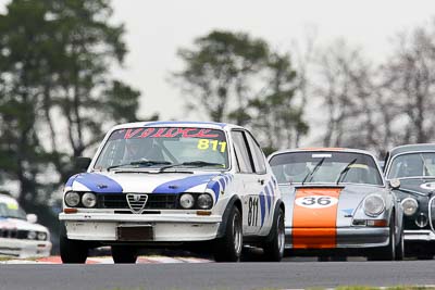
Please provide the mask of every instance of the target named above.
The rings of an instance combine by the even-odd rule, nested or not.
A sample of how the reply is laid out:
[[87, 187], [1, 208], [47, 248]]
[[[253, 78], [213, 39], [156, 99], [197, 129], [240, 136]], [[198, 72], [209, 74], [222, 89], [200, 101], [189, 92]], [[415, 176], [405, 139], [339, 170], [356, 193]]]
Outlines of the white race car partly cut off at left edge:
[[36, 215], [26, 215], [15, 199], [0, 194], [0, 255], [21, 259], [49, 256], [50, 234], [36, 222]]

